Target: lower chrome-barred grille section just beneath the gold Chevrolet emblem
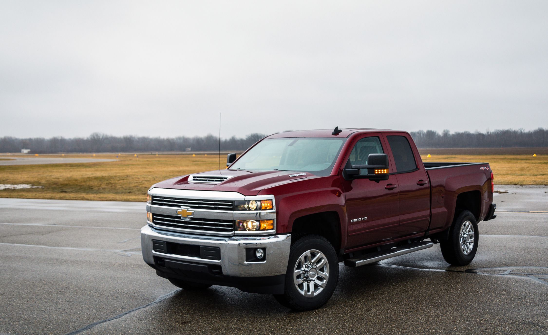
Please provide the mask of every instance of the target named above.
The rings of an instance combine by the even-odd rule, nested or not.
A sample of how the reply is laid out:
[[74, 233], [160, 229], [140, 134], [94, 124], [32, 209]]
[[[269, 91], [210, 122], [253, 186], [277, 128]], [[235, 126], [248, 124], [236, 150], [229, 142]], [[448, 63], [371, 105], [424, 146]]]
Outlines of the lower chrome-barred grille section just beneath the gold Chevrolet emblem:
[[152, 214], [152, 223], [157, 226], [190, 229], [190, 230], [220, 231], [220, 232], [234, 231], [233, 220], [198, 219], [198, 218], [183, 220], [180, 217], [176, 217], [173, 215]]

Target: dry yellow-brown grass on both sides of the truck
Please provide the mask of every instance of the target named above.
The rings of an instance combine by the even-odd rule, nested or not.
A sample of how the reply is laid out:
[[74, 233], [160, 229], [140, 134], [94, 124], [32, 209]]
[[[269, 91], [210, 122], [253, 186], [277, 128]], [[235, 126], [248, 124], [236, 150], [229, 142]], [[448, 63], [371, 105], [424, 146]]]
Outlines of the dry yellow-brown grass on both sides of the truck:
[[[532, 149], [532, 148], [531, 148]], [[533, 151], [531, 149], [527, 149]], [[542, 148], [540, 148], [542, 149]], [[441, 151], [446, 150], [446, 151]], [[452, 152], [447, 152], [452, 150]], [[454, 149], [421, 150], [424, 161], [488, 162], [496, 184], [548, 185], [548, 155], [453, 153]], [[497, 149], [498, 150], [498, 149]], [[456, 150], [454, 150], [456, 151]], [[526, 151], [524, 149], [524, 151]], [[426, 157], [428, 154], [432, 157]], [[496, 153], [496, 150], [495, 150]], [[34, 157], [34, 156], [24, 156]], [[39, 157], [116, 158], [116, 154], [40, 155]], [[221, 157], [221, 168], [226, 155]], [[32, 184], [38, 189], [0, 190], [0, 197], [72, 200], [145, 201], [146, 191], [158, 181], [218, 167], [217, 155], [123, 154], [115, 162], [0, 166], [0, 184]]]

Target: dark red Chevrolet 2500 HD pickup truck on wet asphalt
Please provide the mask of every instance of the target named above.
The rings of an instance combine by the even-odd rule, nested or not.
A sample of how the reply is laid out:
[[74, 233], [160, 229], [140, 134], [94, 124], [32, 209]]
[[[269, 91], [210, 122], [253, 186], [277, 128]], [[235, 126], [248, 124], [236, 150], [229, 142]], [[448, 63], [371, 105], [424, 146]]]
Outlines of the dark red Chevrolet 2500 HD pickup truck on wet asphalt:
[[152, 185], [142, 254], [183, 289], [232, 286], [310, 310], [332, 296], [340, 262], [439, 243], [449, 264], [469, 264], [492, 202], [488, 163], [423, 163], [407, 132], [278, 133], [226, 169]]

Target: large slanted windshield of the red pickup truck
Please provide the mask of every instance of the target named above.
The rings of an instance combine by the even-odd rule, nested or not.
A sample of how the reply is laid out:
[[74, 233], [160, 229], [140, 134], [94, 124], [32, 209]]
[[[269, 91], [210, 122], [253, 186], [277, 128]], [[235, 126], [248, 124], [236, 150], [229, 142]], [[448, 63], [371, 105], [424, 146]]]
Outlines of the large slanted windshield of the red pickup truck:
[[281, 170], [329, 175], [346, 138], [265, 139], [240, 157], [231, 170]]

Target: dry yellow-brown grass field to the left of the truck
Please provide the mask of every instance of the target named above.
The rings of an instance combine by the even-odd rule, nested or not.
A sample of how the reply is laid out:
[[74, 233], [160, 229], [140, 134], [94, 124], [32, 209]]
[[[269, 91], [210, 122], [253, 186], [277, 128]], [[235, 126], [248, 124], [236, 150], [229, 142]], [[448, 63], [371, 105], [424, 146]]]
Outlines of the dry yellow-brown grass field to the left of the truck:
[[[34, 156], [24, 156], [34, 157]], [[40, 155], [113, 158], [116, 154]], [[226, 155], [221, 157], [226, 164]], [[217, 155], [120, 155], [115, 162], [0, 166], [0, 184], [32, 184], [41, 189], [0, 190], [0, 197], [70, 200], [146, 201], [158, 181], [218, 167]]]

